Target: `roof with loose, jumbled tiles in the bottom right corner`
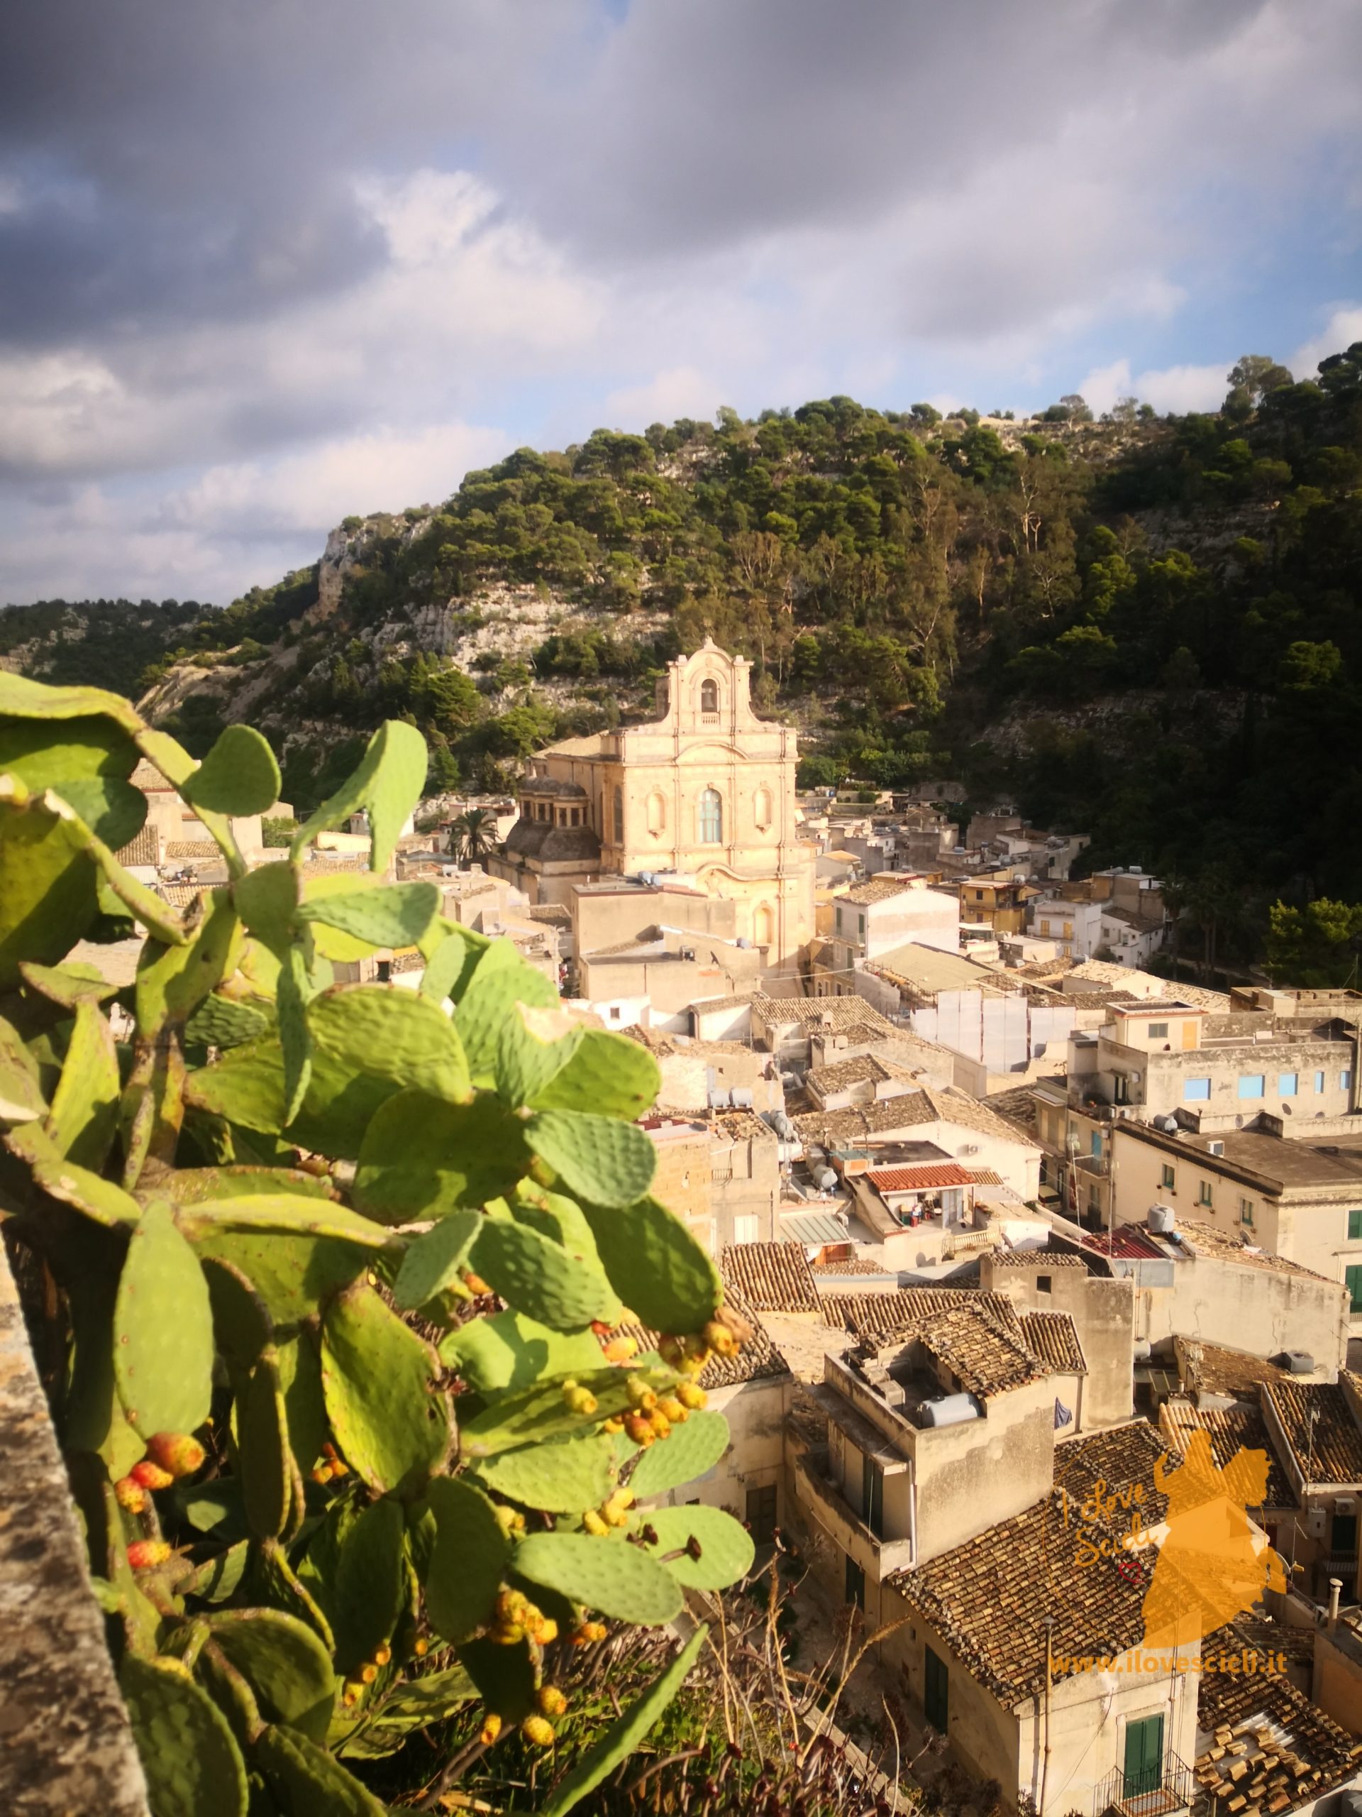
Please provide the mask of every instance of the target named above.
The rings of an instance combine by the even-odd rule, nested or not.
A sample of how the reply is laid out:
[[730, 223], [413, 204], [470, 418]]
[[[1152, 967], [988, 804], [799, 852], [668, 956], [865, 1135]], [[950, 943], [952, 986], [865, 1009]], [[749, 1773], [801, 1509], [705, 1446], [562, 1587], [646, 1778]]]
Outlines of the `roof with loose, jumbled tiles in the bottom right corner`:
[[[1229, 1623], [1202, 1641], [1202, 1657], [1239, 1657], [1262, 1624]], [[1260, 1668], [1266, 1661], [1258, 1655]], [[1211, 1737], [1197, 1755], [1208, 1799], [1233, 1817], [1286, 1817], [1351, 1779], [1362, 1757], [1355, 1741], [1280, 1672], [1202, 1672], [1197, 1728]]]

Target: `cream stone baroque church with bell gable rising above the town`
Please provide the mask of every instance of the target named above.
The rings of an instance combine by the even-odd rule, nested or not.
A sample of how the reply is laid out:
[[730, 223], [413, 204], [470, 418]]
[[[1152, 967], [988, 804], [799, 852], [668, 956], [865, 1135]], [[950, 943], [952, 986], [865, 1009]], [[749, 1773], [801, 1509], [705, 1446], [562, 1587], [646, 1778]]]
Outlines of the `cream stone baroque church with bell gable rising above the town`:
[[694, 881], [786, 965], [814, 938], [814, 847], [799, 839], [797, 740], [752, 710], [752, 665], [712, 640], [657, 683], [661, 718], [565, 738], [519, 781], [519, 819], [489, 869], [532, 903], [608, 878]]

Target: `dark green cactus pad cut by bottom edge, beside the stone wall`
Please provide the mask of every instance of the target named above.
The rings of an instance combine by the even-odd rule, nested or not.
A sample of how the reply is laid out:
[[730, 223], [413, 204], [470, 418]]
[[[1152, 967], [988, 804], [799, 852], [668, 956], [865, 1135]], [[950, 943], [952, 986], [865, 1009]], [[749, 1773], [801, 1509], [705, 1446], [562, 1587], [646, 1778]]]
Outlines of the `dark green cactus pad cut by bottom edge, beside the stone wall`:
[[118, 1673], [151, 1817], [245, 1817], [245, 1761], [227, 1719], [178, 1661], [123, 1657]]

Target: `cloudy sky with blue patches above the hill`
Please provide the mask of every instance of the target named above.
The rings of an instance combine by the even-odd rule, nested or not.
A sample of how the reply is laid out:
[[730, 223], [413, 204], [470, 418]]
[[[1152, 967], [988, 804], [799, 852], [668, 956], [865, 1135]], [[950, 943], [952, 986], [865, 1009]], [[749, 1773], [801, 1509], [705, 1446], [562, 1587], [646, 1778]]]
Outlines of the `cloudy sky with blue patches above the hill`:
[[0, 601], [229, 603], [594, 427], [1362, 340], [1357, 0], [11, 0]]

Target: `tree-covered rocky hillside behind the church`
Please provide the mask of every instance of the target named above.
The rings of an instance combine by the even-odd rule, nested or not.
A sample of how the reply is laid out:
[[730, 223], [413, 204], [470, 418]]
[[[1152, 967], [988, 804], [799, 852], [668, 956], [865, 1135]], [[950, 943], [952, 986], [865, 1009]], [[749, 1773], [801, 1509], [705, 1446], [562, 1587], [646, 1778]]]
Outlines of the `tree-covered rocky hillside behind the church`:
[[196, 750], [262, 725], [307, 805], [392, 714], [427, 732], [432, 787], [499, 785], [554, 736], [645, 714], [712, 634], [801, 727], [806, 781], [962, 776], [1090, 830], [1093, 865], [1173, 876], [1248, 954], [1277, 896], [1362, 899], [1362, 343], [1302, 383], [1237, 376], [1222, 412], [1180, 418], [832, 398], [596, 431], [350, 518], [227, 611], [0, 614], [4, 660], [93, 680], [104, 614], [131, 612], [123, 685]]

